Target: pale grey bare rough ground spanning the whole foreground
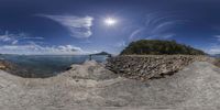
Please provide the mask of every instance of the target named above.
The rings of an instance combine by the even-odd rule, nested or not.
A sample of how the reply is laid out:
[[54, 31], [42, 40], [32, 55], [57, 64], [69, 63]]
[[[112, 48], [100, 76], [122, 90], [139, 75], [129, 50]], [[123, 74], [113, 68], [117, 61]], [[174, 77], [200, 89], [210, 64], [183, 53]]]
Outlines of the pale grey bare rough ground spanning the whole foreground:
[[195, 62], [165, 78], [128, 79], [96, 62], [51, 78], [0, 72], [0, 110], [219, 110], [220, 68]]

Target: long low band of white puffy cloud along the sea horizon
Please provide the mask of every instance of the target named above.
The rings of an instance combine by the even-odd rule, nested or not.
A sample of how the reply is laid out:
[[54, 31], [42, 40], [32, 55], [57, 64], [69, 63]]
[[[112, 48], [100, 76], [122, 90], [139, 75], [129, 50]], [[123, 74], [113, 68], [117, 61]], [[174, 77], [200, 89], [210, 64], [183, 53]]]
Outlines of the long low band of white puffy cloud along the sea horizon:
[[81, 55], [89, 54], [74, 45], [41, 46], [37, 44], [3, 45], [0, 46], [3, 54], [28, 54], [28, 55]]

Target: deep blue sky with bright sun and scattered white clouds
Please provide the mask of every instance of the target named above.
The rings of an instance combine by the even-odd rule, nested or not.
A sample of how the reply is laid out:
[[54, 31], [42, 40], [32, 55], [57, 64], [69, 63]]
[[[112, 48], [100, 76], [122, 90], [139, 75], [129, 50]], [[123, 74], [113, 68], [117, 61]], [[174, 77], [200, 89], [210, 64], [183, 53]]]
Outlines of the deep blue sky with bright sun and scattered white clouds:
[[119, 54], [175, 40], [220, 54], [219, 0], [0, 0], [0, 53]]

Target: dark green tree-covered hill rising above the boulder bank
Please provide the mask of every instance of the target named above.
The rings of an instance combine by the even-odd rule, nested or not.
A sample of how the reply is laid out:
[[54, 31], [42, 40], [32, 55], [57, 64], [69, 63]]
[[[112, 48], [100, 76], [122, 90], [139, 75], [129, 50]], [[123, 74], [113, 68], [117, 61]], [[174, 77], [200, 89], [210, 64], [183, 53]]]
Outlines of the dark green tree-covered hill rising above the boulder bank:
[[194, 47], [178, 44], [175, 41], [161, 41], [161, 40], [140, 40], [132, 42], [125, 47], [121, 55], [206, 55], [205, 52]]

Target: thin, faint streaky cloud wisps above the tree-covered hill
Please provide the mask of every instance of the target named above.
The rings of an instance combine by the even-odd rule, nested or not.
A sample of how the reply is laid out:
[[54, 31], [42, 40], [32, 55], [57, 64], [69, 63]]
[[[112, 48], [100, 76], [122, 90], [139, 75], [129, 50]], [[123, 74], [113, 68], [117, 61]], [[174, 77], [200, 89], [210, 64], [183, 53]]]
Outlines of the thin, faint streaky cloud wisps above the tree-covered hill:
[[140, 38], [170, 38], [176, 34], [172, 31], [175, 26], [185, 24], [187, 20], [182, 20], [175, 14], [150, 13], [145, 18], [145, 22], [136, 28], [129, 40], [135, 41]]

